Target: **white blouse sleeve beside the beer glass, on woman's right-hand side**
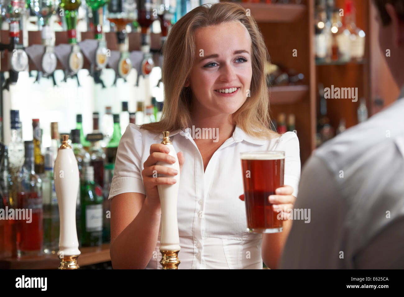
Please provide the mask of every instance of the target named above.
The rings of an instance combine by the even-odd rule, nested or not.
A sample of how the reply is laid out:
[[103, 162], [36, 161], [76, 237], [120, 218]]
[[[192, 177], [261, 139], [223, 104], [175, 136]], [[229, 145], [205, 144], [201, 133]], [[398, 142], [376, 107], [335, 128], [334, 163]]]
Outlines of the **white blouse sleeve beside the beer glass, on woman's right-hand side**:
[[285, 152], [284, 184], [293, 188], [293, 196], [297, 197], [300, 180], [300, 148], [296, 133], [286, 132], [278, 140], [275, 151]]

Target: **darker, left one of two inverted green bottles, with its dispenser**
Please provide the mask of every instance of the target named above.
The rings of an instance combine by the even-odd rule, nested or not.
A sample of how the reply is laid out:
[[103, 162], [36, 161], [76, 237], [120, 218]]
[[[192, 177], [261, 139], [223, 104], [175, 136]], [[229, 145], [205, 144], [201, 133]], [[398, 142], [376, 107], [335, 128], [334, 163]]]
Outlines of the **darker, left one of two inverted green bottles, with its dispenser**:
[[68, 41], [72, 45], [72, 51], [69, 54], [69, 70], [73, 74], [77, 74], [84, 63], [83, 54], [76, 40], [76, 23], [80, 5], [81, 0], [61, 0], [60, 4], [67, 23]]

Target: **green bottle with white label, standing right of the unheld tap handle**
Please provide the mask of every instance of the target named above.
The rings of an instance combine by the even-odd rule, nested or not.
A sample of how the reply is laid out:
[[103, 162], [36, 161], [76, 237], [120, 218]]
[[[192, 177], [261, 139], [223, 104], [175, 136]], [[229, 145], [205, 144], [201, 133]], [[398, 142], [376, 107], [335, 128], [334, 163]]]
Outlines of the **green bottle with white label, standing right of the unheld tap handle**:
[[85, 167], [80, 199], [82, 246], [100, 246], [102, 244], [103, 196], [101, 187], [94, 183], [93, 166]]

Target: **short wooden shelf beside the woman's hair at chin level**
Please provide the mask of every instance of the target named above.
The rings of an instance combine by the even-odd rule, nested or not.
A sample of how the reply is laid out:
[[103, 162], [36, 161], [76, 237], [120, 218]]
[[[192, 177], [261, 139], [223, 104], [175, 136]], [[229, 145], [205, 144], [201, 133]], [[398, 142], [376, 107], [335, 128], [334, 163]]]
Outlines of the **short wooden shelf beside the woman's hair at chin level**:
[[273, 86], [269, 88], [269, 104], [292, 104], [299, 102], [309, 92], [309, 86]]

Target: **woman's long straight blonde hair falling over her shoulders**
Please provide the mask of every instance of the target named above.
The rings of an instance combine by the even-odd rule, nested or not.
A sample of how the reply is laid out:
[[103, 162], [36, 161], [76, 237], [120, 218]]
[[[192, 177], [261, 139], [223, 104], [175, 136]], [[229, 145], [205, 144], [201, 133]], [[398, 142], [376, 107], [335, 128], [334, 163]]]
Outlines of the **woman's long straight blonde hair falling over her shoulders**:
[[[211, 5], [209, 7], [209, 5]], [[171, 28], [163, 46], [162, 81], [164, 106], [160, 122], [141, 125], [149, 131], [185, 130], [191, 126], [191, 88], [184, 84], [189, 78], [195, 59], [194, 32], [198, 28], [240, 21], [251, 38], [252, 78], [250, 96], [232, 115], [234, 124], [247, 134], [260, 139], [278, 137], [271, 130], [269, 91], [266, 85], [264, 65], [269, 61], [265, 42], [257, 23], [246, 10], [235, 3], [203, 4], [181, 17]]]

